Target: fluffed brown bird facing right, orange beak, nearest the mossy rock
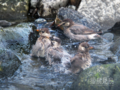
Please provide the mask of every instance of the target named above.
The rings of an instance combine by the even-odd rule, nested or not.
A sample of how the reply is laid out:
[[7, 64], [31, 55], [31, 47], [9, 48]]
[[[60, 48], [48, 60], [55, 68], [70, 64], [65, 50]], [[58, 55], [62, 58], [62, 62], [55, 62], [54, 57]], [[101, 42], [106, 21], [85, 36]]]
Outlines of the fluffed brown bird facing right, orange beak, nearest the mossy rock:
[[72, 73], [76, 74], [91, 66], [89, 50], [93, 49], [87, 42], [82, 42], [78, 47], [78, 53], [70, 59]]

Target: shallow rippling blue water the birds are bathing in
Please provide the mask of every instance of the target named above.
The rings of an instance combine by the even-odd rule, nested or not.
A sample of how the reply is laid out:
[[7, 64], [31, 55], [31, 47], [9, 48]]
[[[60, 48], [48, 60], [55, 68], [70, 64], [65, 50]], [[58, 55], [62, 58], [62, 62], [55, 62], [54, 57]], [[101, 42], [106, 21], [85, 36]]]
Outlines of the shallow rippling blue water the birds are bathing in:
[[[38, 28], [41, 26], [39, 25]], [[73, 42], [59, 30], [50, 29], [50, 32], [62, 39], [62, 47], [69, 54], [74, 56], [77, 53], [80, 42]], [[94, 46], [94, 50], [90, 51], [93, 66], [113, 55], [109, 51], [112, 42], [102, 39], [88, 43]], [[77, 78], [77, 75], [69, 73], [69, 70], [61, 64], [49, 66], [45, 59], [31, 57], [30, 52], [18, 53], [18, 56], [21, 58], [21, 66], [12, 77], [0, 80], [0, 90], [70, 90], [73, 81]]]

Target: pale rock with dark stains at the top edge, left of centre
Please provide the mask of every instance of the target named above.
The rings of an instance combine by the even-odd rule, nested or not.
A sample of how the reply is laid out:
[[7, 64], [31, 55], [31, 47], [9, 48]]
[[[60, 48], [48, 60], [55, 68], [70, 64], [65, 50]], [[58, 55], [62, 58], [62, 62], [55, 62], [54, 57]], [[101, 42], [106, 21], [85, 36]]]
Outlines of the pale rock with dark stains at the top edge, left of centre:
[[[43, 17], [56, 15], [60, 7], [67, 6], [69, 0], [31, 0], [31, 5], [38, 8], [38, 15]], [[38, 6], [37, 6], [37, 3]]]

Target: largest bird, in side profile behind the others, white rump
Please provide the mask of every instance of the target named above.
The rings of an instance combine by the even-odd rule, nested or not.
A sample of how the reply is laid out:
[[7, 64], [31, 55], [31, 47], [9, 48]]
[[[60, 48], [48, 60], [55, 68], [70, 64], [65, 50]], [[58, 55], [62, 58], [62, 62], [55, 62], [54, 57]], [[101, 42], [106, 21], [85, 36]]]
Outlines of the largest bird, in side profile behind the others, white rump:
[[63, 27], [64, 35], [75, 41], [88, 41], [101, 38], [101, 36], [98, 35], [100, 32], [95, 32], [82, 24], [77, 24], [71, 19], [64, 19], [57, 25], [57, 27], [60, 26]]

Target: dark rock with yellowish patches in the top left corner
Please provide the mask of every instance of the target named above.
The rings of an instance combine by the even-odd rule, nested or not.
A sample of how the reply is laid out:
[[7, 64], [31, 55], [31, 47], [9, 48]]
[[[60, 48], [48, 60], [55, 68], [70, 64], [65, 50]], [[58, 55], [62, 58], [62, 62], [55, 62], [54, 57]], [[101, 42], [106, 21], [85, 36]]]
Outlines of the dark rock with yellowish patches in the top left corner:
[[27, 20], [29, 0], [1, 0], [1, 20]]

